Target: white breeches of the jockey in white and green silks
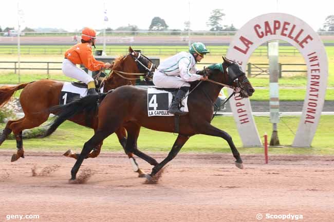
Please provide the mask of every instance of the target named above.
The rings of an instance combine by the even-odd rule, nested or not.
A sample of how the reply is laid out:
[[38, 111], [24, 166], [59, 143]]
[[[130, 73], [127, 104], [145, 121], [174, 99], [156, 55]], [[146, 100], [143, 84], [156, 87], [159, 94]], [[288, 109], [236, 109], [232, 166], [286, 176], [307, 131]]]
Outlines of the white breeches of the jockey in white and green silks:
[[181, 88], [182, 86], [190, 86], [188, 82], [185, 82], [182, 78], [173, 75], [166, 75], [159, 70], [155, 70], [153, 74], [153, 83], [157, 87], [161, 88]]

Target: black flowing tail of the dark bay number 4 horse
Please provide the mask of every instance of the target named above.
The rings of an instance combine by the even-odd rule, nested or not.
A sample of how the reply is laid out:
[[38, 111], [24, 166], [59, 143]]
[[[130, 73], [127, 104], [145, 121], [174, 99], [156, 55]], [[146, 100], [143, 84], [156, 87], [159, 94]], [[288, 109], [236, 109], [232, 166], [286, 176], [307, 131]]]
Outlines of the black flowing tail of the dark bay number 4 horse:
[[97, 111], [98, 100], [104, 98], [106, 93], [97, 95], [87, 95], [83, 98], [74, 100], [66, 105], [54, 106], [50, 108], [51, 112], [57, 115], [51, 126], [47, 129], [43, 137], [52, 134], [66, 119], [71, 118], [81, 112]]

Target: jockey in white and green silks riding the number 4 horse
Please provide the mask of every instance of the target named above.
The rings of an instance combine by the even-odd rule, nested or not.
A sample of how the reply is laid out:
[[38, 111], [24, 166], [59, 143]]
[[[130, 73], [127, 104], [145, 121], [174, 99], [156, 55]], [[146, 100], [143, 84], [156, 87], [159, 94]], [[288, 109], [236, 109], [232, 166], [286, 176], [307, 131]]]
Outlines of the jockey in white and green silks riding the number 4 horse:
[[184, 115], [179, 104], [190, 88], [189, 82], [206, 80], [208, 77], [196, 74], [196, 63], [200, 62], [205, 54], [209, 53], [202, 43], [193, 43], [189, 52], [180, 52], [164, 60], [153, 75], [153, 83], [161, 88], [177, 88], [175, 99], [170, 107], [170, 113]]

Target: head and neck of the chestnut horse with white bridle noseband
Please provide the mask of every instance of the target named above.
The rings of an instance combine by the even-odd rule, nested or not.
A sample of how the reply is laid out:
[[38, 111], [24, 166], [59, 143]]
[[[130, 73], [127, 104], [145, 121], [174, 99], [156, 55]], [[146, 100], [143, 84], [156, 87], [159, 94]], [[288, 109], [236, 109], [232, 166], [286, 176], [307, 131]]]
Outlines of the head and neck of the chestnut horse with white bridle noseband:
[[[128, 48], [128, 54], [115, 59], [112, 71], [105, 81], [107, 90], [124, 85], [135, 85], [136, 80], [143, 76], [145, 80], [152, 77], [156, 66], [151, 59]], [[139, 75], [136, 75], [138, 73]]]

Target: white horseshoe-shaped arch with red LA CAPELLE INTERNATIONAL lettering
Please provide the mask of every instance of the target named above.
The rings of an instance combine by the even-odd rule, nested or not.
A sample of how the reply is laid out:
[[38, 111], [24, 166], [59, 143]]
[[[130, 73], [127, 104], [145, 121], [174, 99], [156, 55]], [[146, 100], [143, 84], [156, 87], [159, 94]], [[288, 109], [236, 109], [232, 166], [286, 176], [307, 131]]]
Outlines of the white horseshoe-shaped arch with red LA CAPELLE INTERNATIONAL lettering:
[[[227, 57], [246, 70], [252, 52], [267, 41], [277, 39], [297, 48], [307, 65], [303, 113], [292, 146], [310, 147], [324, 106], [328, 78], [327, 54], [318, 34], [304, 21], [289, 14], [260, 15], [238, 30], [230, 43]], [[230, 105], [243, 145], [262, 146], [249, 98], [233, 97]]]

